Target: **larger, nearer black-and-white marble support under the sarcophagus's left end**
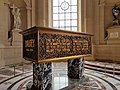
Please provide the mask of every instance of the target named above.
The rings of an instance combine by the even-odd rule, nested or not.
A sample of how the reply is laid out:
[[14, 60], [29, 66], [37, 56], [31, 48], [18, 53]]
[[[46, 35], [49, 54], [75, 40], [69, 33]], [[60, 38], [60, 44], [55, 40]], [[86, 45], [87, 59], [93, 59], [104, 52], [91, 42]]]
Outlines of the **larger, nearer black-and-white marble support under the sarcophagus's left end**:
[[52, 88], [51, 63], [33, 63], [33, 89], [51, 90]]

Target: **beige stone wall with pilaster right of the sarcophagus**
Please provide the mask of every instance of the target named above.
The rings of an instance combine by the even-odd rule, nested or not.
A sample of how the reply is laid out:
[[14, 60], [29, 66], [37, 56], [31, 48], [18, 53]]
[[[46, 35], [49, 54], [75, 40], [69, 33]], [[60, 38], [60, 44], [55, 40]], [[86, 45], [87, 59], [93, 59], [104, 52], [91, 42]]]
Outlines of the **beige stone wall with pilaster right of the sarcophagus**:
[[[94, 18], [90, 21], [93, 23], [94, 59], [111, 59], [113, 61], [120, 61], [120, 44], [115, 44], [115, 40], [113, 40], [113, 43], [111, 42], [111, 44], [108, 45], [107, 39], [105, 38], [105, 32], [107, 28], [111, 26], [113, 20], [111, 9], [113, 8], [114, 4], [119, 4], [120, 2], [119, 0], [100, 1], [101, 2], [99, 3], [99, 0], [93, 0]], [[89, 6], [87, 7], [89, 8]], [[89, 15], [89, 13], [87, 15]], [[89, 31], [89, 28], [86, 31]]]

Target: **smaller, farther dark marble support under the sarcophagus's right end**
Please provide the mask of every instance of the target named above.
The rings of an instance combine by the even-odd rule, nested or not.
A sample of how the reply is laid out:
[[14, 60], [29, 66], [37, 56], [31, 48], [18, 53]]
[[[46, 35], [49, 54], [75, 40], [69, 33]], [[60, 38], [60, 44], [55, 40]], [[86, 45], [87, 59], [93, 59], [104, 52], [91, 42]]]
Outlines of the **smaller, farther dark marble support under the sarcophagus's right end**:
[[84, 72], [84, 58], [76, 58], [68, 61], [68, 77], [79, 79]]

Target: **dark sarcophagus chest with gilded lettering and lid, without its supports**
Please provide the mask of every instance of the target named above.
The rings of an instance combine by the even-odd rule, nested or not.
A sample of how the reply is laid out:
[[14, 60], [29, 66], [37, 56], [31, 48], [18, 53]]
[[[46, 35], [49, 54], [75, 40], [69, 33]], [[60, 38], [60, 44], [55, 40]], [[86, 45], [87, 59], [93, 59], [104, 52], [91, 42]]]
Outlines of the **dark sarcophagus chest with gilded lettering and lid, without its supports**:
[[35, 62], [62, 61], [89, 56], [91, 34], [32, 27], [23, 34], [23, 58]]

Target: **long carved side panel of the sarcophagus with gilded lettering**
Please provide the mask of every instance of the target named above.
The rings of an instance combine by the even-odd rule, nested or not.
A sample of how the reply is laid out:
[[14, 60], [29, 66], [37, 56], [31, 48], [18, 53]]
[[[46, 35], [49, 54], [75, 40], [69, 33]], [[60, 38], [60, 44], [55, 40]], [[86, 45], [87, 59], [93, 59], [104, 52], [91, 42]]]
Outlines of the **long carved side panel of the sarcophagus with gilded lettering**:
[[40, 33], [40, 59], [91, 54], [91, 38]]

